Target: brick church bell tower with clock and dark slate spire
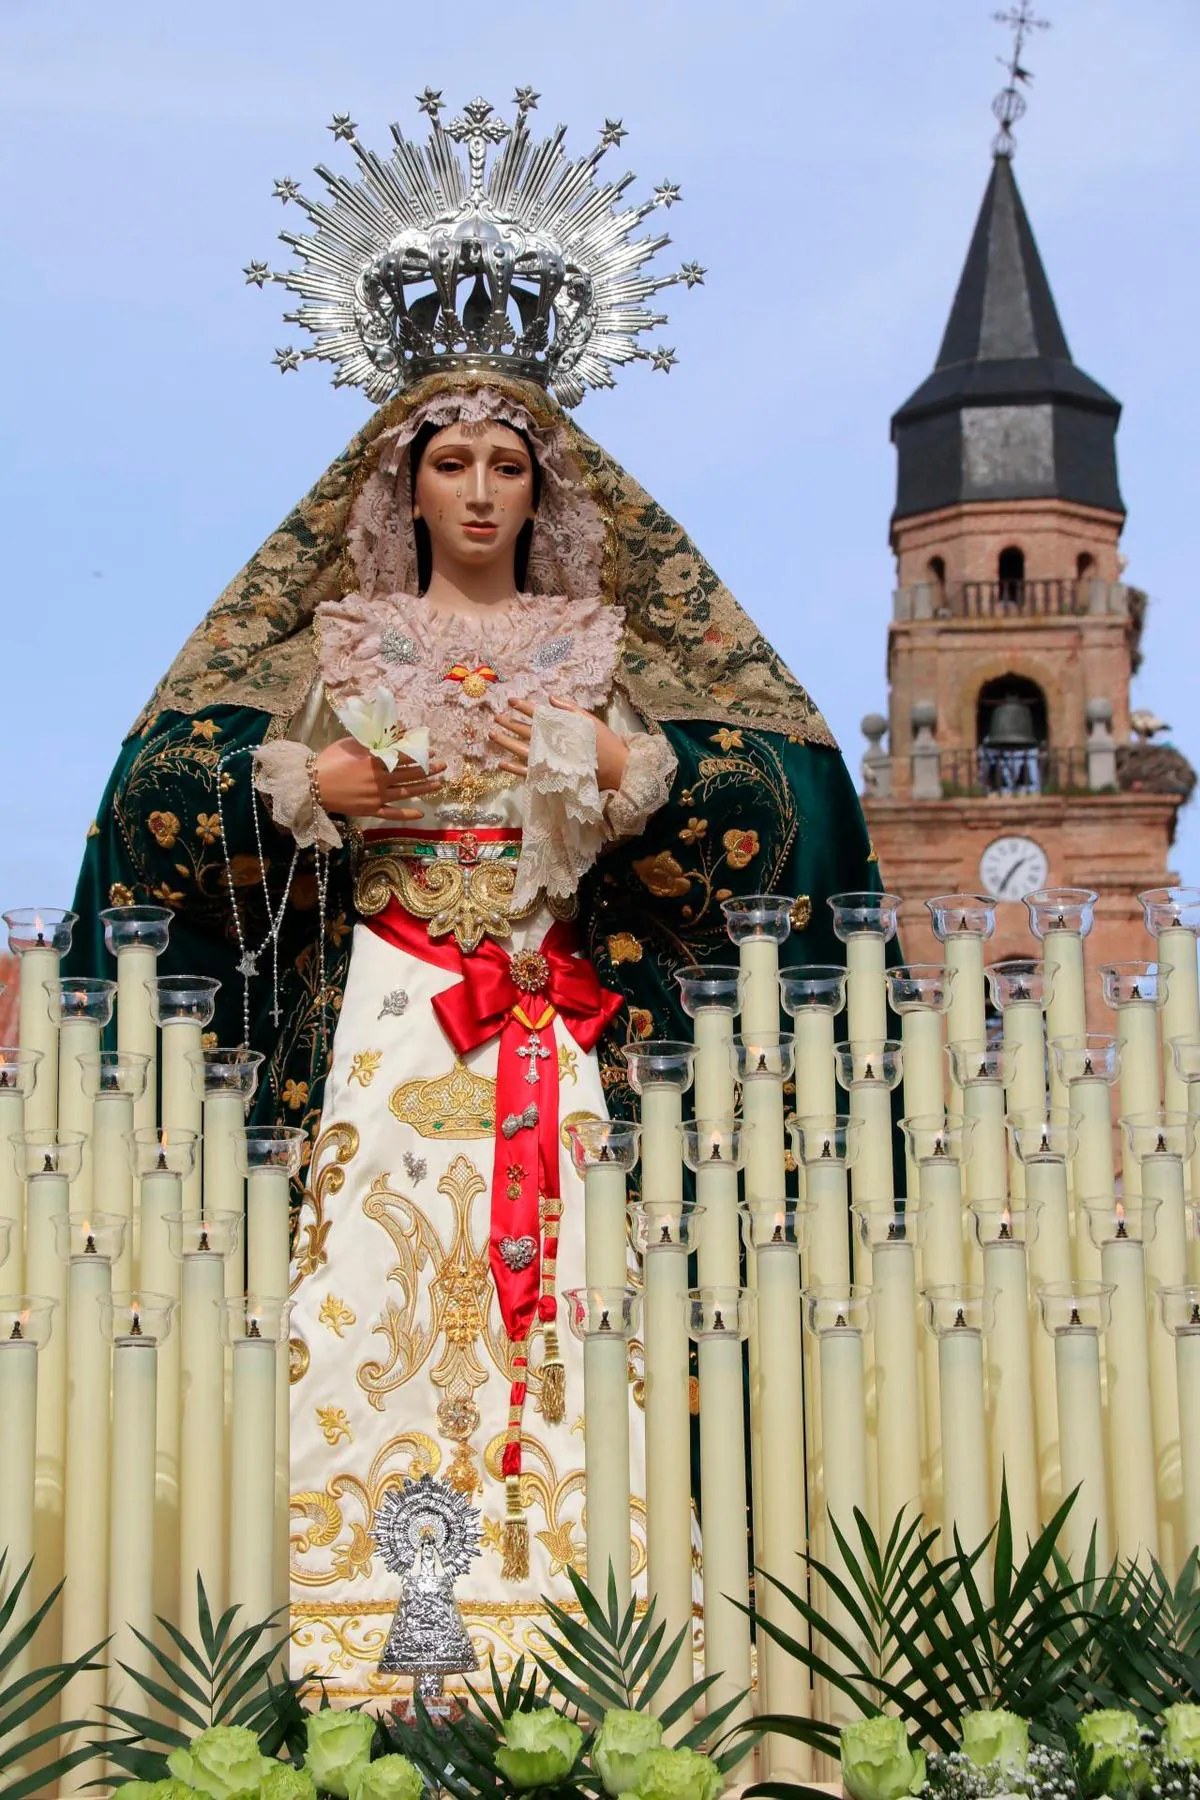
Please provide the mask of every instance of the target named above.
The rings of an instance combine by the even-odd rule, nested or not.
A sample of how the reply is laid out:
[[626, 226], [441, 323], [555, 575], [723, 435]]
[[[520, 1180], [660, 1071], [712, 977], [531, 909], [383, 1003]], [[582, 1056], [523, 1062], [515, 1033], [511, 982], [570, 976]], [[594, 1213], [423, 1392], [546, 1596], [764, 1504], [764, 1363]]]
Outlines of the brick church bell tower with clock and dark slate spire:
[[[1097, 891], [1092, 965], [1146, 956], [1135, 896], [1178, 878], [1195, 772], [1130, 713], [1119, 416], [1070, 356], [1002, 131], [934, 373], [892, 418], [889, 707], [864, 720], [885, 884], [995, 896], [995, 958], [1029, 954], [1020, 900], [1051, 886]], [[905, 954], [936, 959], [907, 914]]]

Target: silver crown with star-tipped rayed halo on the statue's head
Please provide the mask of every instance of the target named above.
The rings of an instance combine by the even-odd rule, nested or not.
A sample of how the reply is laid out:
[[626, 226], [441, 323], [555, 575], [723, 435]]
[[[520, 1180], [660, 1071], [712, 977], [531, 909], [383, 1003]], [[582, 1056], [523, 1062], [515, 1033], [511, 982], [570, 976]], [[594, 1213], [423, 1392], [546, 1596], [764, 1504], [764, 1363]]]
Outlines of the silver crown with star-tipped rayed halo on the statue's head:
[[417, 104], [432, 121], [428, 142], [410, 142], [394, 124], [387, 158], [358, 142], [349, 113], [333, 115], [329, 130], [354, 151], [360, 176], [318, 164], [324, 202], [308, 200], [299, 182], [275, 182], [275, 196], [304, 207], [315, 225], [311, 236], [279, 234], [304, 266], [245, 270], [257, 288], [279, 281], [304, 301], [284, 319], [315, 342], [277, 349], [281, 373], [318, 358], [335, 364], [335, 387], [383, 401], [434, 369], [502, 371], [574, 407], [588, 387], [612, 387], [619, 364], [671, 369], [673, 349], [639, 344], [642, 331], [666, 324], [646, 301], [680, 281], [693, 288], [705, 272], [685, 263], [646, 274], [671, 239], [633, 232], [675, 205], [678, 187], [662, 182], [649, 200], [619, 211], [633, 175], [599, 182], [596, 171], [626, 135], [621, 121], [606, 119], [599, 144], [572, 160], [565, 126], [531, 137], [536, 103], [533, 88], [518, 88], [513, 124], [484, 99], [443, 124], [441, 90], [426, 88]]

